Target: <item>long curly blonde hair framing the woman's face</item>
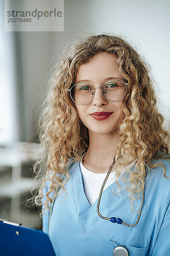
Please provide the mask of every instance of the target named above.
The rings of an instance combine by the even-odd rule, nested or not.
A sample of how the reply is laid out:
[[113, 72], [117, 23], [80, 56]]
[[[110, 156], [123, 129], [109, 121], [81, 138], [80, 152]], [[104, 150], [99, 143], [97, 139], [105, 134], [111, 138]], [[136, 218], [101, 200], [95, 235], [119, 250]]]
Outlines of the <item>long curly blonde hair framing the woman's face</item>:
[[[144, 190], [148, 166], [162, 166], [166, 177], [161, 163], [152, 164], [152, 160], [170, 158], [170, 135], [163, 128], [164, 117], [156, 107], [156, 96], [147, 62], [120, 36], [107, 33], [86, 35], [65, 47], [51, 72], [48, 93], [40, 113], [39, 139], [44, 155], [34, 164], [35, 179], [40, 184], [34, 202], [42, 205], [42, 189], [49, 180], [45, 209], [49, 209], [48, 204], [56, 197], [59, 187], [65, 190], [64, 185], [69, 180], [69, 159], [71, 163], [80, 161], [82, 154], [88, 149], [88, 128], [79, 119], [68, 88], [76, 79], [79, 66], [88, 63], [100, 52], [108, 52], [116, 57], [120, 76], [128, 83], [127, 94], [122, 101], [125, 118], [119, 123], [119, 150], [115, 157], [118, 163], [115, 176], [117, 193], [121, 191], [119, 177], [124, 180], [125, 187], [126, 181], [130, 181], [131, 186], [127, 190], [132, 211], [132, 201], [137, 199], [136, 195], [140, 199], [139, 192]], [[134, 171], [127, 169], [126, 166], [135, 160]], [[127, 178], [121, 176], [125, 170]], [[67, 180], [61, 180], [60, 174], [65, 174]], [[52, 197], [49, 196], [51, 192], [54, 192]]]

